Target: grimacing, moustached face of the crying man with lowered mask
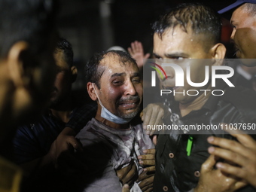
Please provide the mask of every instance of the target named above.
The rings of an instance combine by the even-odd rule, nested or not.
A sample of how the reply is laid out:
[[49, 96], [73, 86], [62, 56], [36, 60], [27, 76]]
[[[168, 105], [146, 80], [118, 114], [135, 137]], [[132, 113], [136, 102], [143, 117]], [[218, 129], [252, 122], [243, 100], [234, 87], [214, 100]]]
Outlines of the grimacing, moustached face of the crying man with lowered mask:
[[123, 64], [119, 56], [107, 55], [99, 68], [104, 69], [100, 91], [96, 90], [102, 105], [117, 117], [135, 117], [142, 102], [142, 82], [136, 64]]

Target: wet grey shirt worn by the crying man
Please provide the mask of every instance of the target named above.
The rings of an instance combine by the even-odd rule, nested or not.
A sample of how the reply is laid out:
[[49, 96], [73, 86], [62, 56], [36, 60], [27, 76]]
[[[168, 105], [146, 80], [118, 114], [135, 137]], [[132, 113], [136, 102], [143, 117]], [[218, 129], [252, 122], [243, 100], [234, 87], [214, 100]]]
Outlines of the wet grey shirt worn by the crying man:
[[[154, 148], [142, 124], [130, 126], [127, 130], [117, 130], [92, 119], [76, 136], [83, 145], [84, 163], [88, 165], [87, 186], [84, 191], [118, 191], [122, 187], [116, 170], [136, 163], [139, 173], [138, 156], [143, 150]], [[92, 178], [90, 180], [90, 178]], [[141, 191], [135, 183], [130, 191]]]

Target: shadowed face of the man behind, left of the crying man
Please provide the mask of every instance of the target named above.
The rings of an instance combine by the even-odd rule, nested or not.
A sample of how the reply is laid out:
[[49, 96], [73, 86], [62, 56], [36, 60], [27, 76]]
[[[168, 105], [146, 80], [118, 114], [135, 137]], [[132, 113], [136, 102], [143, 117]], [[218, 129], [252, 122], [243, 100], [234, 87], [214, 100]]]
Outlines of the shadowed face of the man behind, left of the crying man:
[[65, 60], [63, 50], [57, 50], [53, 56], [56, 61], [57, 73], [50, 95], [50, 107], [58, 105], [69, 96], [72, 88], [72, 72]]

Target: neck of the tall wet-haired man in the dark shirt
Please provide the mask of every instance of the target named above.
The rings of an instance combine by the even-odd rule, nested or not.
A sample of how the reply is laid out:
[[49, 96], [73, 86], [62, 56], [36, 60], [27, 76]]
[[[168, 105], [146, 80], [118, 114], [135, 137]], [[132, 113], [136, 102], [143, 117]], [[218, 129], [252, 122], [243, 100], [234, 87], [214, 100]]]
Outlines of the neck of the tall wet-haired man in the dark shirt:
[[[209, 87], [207, 90], [212, 90], [212, 87]], [[181, 111], [181, 117], [186, 116], [191, 111], [199, 110], [203, 107], [203, 105], [206, 104], [209, 97], [211, 96], [212, 91], [208, 91], [205, 95], [205, 93], [202, 93], [200, 96], [197, 97], [197, 99], [194, 99], [191, 102], [187, 103], [179, 103], [179, 109]]]

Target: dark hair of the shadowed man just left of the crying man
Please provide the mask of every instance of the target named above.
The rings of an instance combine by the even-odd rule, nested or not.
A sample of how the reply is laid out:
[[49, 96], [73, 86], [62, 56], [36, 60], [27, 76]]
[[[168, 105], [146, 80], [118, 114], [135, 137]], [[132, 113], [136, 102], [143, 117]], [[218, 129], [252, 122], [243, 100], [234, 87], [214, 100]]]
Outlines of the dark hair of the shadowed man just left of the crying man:
[[72, 44], [69, 43], [69, 41], [67, 41], [65, 38], [59, 38], [59, 41], [57, 42], [57, 46], [54, 52], [57, 53], [59, 50], [63, 51], [64, 60], [67, 62], [67, 64], [71, 68], [74, 65], [73, 63], [74, 52], [72, 49]]

